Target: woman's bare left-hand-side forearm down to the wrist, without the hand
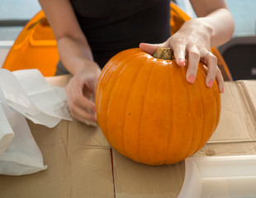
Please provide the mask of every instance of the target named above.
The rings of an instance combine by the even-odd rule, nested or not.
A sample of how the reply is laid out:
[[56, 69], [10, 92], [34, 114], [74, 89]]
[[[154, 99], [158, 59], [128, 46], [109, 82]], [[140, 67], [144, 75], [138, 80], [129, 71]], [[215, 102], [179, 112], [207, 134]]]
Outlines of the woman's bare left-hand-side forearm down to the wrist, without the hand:
[[69, 0], [39, 0], [57, 40], [59, 57], [69, 73], [76, 74], [93, 62], [92, 51]]

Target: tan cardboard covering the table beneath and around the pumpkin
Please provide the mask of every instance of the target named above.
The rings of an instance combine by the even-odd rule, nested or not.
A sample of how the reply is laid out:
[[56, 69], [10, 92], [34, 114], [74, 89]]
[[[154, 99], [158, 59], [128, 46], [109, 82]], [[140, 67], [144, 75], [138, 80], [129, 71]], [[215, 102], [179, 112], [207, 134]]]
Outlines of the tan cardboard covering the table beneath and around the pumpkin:
[[[47, 78], [63, 86], [69, 76]], [[195, 157], [256, 154], [256, 81], [225, 82], [220, 124]], [[48, 168], [0, 176], [0, 197], [171, 198], [183, 186], [185, 163], [147, 166], [111, 150], [99, 128], [62, 120], [54, 129], [28, 121]]]

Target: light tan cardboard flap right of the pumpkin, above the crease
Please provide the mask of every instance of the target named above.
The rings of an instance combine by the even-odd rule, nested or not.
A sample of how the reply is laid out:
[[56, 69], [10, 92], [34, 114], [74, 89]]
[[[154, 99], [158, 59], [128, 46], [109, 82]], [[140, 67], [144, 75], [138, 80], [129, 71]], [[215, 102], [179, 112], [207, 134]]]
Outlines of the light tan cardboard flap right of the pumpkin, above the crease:
[[256, 86], [249, 85], [252, 84], [244, 84], [244, 81], [225, 82], [225, 92], [221, 94], [220, 123], [208, 144], [256, 141], [256, 102], [252, 108], [249, 98], [249, 95], [256, 97]]

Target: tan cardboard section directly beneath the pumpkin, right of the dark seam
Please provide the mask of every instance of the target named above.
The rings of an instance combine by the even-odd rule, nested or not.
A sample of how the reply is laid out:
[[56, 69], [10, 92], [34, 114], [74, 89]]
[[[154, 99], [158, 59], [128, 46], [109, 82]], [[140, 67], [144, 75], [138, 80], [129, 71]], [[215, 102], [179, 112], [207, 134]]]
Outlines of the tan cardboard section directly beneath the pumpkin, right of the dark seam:
[[177, 198], [183, 186], [184, 162], [168, 166], [135, 163], [112, 150], [116, 198]]

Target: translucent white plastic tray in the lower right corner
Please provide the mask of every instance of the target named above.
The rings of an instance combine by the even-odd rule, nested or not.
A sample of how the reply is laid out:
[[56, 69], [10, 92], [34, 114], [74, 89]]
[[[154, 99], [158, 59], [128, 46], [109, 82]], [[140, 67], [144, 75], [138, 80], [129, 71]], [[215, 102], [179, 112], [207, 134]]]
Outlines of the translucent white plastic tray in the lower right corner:
[[256, 155], [187, 158], [178, 198], [255, 198]]

